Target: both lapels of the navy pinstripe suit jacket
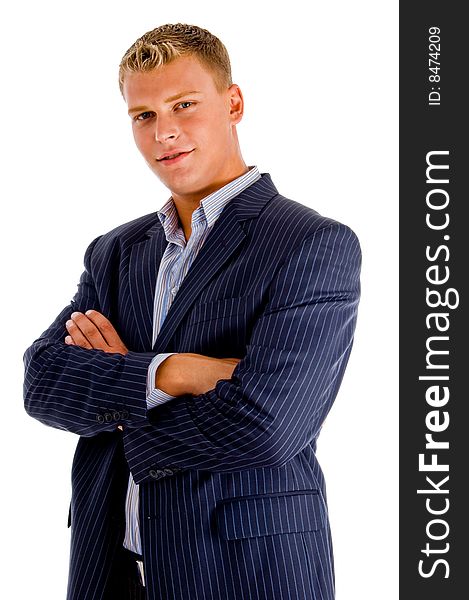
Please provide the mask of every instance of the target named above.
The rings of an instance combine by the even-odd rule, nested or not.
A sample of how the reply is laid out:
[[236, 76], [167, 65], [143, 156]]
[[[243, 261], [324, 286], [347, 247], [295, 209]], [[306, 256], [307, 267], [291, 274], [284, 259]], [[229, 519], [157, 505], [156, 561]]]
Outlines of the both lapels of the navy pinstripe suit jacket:
[[[261, 179], [225, 206], [178, 290], [158, 334], [154, 352], [166, 351], [179, 323], [201, 291], [244, 242], [246, 234], [242, 222], [256, 218], [264, 205], [277, 194], [270, 175], [264, 173]], [[132, 247], [129, 273], [132, 303], [144, 348], [151, 347], [156, 278], [168, 244], [159, 221], [147, 234], [150, 239]]]

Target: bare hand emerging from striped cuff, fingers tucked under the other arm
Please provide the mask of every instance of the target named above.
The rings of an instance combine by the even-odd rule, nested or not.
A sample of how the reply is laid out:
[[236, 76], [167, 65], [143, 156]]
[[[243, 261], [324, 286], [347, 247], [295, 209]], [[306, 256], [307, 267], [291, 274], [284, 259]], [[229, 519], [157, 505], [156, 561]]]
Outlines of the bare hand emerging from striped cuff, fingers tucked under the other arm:
[[205, 394], [213, 390], [220, 379], [231, 379], [240, 360], [192, 352], [173, 354], [158, 367], [155, 385], [171, 396]]

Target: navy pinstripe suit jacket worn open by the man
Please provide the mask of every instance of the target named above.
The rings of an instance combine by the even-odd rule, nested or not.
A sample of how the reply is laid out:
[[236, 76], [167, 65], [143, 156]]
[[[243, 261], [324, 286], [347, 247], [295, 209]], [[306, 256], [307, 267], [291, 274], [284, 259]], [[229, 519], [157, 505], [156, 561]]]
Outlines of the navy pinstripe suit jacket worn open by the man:
[[[156, 213], [94, 240], [70, 305], [25, 353], [26, 411], [80, 436], [67, 598], [117, 598], [130, 468], [150, 600], [331, 600], [315, 449], [352, 346], [357, 238], [263, 174], [223, 209], [152, 348], [166, 244]], [[64, 344], [69, 315], [90, 308], [129, 354]], [[147, 411], [159, 352], [241, 361], [213, 390]]]

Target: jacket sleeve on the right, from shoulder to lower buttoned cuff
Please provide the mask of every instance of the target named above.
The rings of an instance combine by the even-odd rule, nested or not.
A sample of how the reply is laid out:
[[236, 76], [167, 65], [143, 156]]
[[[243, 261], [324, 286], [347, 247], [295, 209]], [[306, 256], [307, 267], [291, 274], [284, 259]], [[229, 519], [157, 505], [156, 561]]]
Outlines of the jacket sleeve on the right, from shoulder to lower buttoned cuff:
[[340, 223], [292, 249], [232, 377], [152, 409], [151, 424], [124, 432], [135, 481], [159, 466], [281, 466], [316, 438], [352, 347], [360, 266], [358, 240]]

